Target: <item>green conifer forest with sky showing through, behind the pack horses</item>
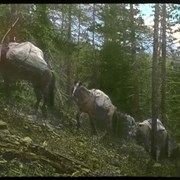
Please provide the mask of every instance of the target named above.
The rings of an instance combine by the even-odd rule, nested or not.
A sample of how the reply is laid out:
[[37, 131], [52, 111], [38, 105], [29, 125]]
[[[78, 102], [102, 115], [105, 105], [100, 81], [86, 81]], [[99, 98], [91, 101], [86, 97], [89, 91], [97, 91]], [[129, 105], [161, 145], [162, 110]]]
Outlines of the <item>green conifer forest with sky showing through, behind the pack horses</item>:
[[[90, 89], [104, 91], [121, 112], [137, 121], [153, 116], [155, 102], [155, 116], [180, 142], [180, 5], [159, 4], [156, 42], [155, 5], [149, 5], [151, 25], [146, 24], [140, 6], [1, 4], [1, 39], [19, 18], [4, 43], [15, 37], [16, 42], [30, 41], [42, 49], [56, 75], [56, 109], [69, 121], [74, 116], [71, 88], [81, 80]], [[32, 87], [26, 83], [18, 82], [13, 95], [31, 106], [34, 100], [27, 93]], [[3, 80], [0, 87], [3, 96]]]

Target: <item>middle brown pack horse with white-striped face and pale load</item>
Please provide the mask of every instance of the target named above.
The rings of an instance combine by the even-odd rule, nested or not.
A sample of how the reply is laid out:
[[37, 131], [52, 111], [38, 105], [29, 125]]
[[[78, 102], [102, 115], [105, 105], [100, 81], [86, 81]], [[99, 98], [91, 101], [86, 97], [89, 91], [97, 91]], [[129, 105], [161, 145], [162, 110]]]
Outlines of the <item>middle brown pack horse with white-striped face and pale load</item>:
[[99, 129], [107, 130], [112, 135], [113, 115], [116, 107], [112, 104], [110, 98], [99, 89], [87, 89], [81, 82], [75, 82], [72, 97], [75, 100], [79, 112], [77, 113], [77, 128], [80, 127], [80, 114], [82, 112], [89, 115], [92, 133], [97, 134], [96, 126]]

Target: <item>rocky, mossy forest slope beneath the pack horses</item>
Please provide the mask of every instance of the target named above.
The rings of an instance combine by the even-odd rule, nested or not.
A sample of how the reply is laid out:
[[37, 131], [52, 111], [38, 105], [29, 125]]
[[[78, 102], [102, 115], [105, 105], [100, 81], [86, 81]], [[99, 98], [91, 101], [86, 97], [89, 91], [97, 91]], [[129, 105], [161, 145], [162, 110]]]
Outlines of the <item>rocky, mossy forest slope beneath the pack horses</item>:
[[180, 176], [179, 160], [155, 163], [141, 146], [92, 136], [87, 119], [44, 119], [1, 106], [0, 176]]

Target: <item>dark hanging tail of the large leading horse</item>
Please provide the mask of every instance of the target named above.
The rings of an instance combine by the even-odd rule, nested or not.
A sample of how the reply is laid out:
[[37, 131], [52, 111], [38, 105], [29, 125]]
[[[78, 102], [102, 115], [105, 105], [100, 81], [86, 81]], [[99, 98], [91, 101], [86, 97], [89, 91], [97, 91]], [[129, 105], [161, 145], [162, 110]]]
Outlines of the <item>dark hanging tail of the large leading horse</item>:
[[49, 84], [49, 91], [48, 91], [48, 106], [52, 107], [54, 105], [54, 89], [55, 89], [55, 74], [51, 71], [52, 77]]

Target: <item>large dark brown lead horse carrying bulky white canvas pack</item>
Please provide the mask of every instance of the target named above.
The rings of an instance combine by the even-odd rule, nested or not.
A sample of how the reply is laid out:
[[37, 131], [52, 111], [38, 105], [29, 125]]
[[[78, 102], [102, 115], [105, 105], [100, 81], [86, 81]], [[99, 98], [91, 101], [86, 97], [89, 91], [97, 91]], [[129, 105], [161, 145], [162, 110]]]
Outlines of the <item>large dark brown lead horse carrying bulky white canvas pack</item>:
[[43, 98], [42, 112], [45, 115], [46, 106], [54, 104], [55, 75], [44, 60], [43, 52], [30, 42], [2, 44], [0, 49], [0, 72], [7, 95], [10, 82], [31, 82], [37, 98], [35, 112]]

